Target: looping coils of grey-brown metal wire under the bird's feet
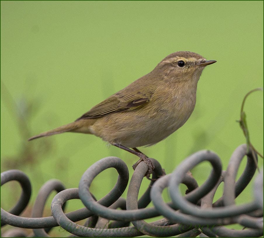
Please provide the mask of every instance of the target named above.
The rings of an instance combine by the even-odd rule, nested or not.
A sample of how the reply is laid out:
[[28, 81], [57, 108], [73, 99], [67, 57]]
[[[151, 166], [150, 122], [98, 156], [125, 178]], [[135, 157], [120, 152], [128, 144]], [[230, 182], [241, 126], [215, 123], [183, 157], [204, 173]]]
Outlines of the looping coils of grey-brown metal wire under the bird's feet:
[[[235, 198], [249, 184], [256, 171], [252, 154], [246, 153], [246, 145], [237, 147], [227, 170], [222, 171], [220, 158], [211, 151], [202, 150], [186, 158], [173, 173], [166, 176], [162, 176], [163, 170], [159, 162], [152, 159], [155, 165], [152, 175], [154, 180], [140, 199], [138, 193], [147, 165], [141, 162], [137, 166], [128, 185], [128, 168], [124, 161], [117, 157], [106, 157], [86, 170], [79, 188], [65, 189], [58, 180], [45, 183], [39, 191], [31, 218], [19, 216], [31, 196], [30, 181], [22, 171], [8, 170], [1, 173], [1, 186], [16, 180], [22, 187], [22, 194], [11, 211], [1, 208], [1, 226], [9, 224], [33, 229], [28, 237], [49, 237], [48, 232], [56, 226], [70, 232], [71, 237], [259, 237], [263, 235], [263, 171], [255, 179], [254, 200], [242, 205], [235, 204]], [[235, 181], [244, 156], [247, 157], [246, 167]], [[198, 187], [189, 170], [203, 161], [209, 161], [212, 170], [204, 184]], [[112, 167], [119, 174], [117, 182], [105, 197], [96, 201], [90, 193], [90, 185], [99, 173]], [[214, 194], [222, 182], [223, 196], [213, 203]], [[179, 190], [180, 183], [188, 188], [184, 197]], [[127, 185], [125, 200], [121, 195]], [[166, 187], [171, 197], [169, 203], [165, 203], [162, 198], [162, 191]], [[42, 217], [45, 202], [54, 190], [58, 193], [51, 204], [53, 216]], [[80, 199], [84, 208], [65, 214], [64, 206], [70, 199]], [[154, 206], [146, 208], [151, 201]], [[164, 218], [151, 223], [144, 221], [160, 215]], [[83, 226], [76, 223], [86, 218]], [[245, 229], [233, 230], [224, 226], [229, 224], [240, 224]], [[14, 228], [1, 235], [16, 236], [26, 237], [26, 234], [21, 229]]]

